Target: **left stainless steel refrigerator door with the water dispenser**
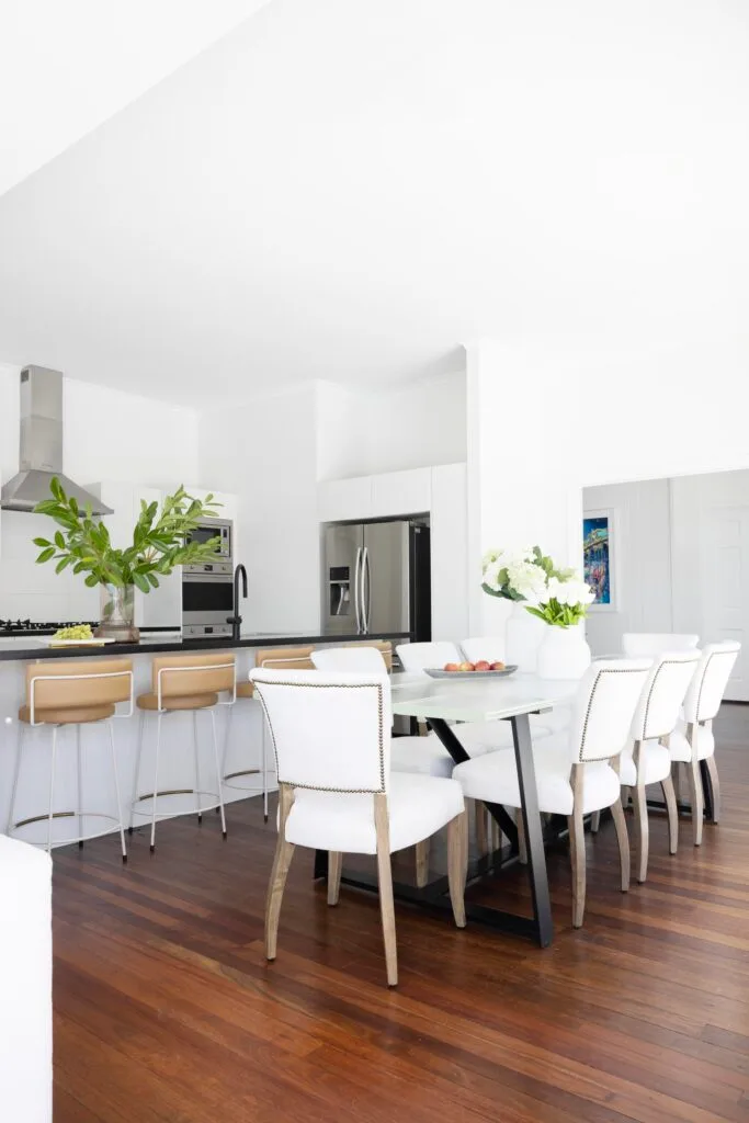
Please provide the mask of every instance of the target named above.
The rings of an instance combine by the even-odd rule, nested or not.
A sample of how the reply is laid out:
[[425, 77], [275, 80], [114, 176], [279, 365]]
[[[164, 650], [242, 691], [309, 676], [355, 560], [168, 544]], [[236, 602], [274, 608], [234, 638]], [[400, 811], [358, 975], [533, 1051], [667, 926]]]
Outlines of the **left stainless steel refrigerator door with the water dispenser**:
[[322, 560], [322, 633], [350, 636], [364, 630], [360, 584], [362, 523], [326, 527]]

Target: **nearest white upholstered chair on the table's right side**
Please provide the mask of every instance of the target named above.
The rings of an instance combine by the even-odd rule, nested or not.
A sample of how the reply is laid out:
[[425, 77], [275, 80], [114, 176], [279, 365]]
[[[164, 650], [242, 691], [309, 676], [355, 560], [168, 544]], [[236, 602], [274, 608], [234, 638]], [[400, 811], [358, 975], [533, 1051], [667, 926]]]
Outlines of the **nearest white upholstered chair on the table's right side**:
[[[629, 888], [630, 856], [621, 805], [619, 755], [650, 668], [649, 659], [605, 659], [581, 679], [567, 734], [542, 741], [533, 752], [541, 813], [561, 814], [569, 823], [573, 871], [573, 926], [585, 911], [585, 838], [583, 816], [611, 807], [621, 864], [622, 892]], [[464, 795], [520, 807], [513, 754], [490, 752], [457, 765], [453, 773]]]

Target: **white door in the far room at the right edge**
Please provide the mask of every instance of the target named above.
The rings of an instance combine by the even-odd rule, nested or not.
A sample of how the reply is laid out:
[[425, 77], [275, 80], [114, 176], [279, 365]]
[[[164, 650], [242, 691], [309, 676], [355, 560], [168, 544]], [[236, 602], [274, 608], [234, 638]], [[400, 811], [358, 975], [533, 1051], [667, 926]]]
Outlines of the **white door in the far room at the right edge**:
[[749, 702], [749, 505], [704, 510], [701, 642], [738, 640], [741, 646], [725, 699]]

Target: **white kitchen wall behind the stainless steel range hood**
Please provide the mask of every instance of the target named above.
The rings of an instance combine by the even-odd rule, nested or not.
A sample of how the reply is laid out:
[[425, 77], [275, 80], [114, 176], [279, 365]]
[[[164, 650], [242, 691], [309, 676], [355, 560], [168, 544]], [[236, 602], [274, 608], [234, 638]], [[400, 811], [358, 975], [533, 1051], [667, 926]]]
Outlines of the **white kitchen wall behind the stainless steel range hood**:
[[[0, 474], [18, 472], [20, 367], [0, 364]], [[82, 486], [102, 480], [173, 487], [198, 477], [198, 417], [193, 410], [65, 378], [66, 475]], [[51, 522], [19, 511], [0, 514], [0, 618], [97, 620], [99, 593], [70, 570], [37, 566], [31, 539]]]

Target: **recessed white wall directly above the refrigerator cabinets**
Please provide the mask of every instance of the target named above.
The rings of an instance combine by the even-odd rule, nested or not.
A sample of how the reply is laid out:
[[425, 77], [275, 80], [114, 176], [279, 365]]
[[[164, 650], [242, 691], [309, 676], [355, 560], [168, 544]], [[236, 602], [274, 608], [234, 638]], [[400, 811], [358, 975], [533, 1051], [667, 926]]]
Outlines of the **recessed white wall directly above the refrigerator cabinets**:
[[375, 392], [320, 382], [317, 424], [319, 480], [465, 462], [465, 371]]

